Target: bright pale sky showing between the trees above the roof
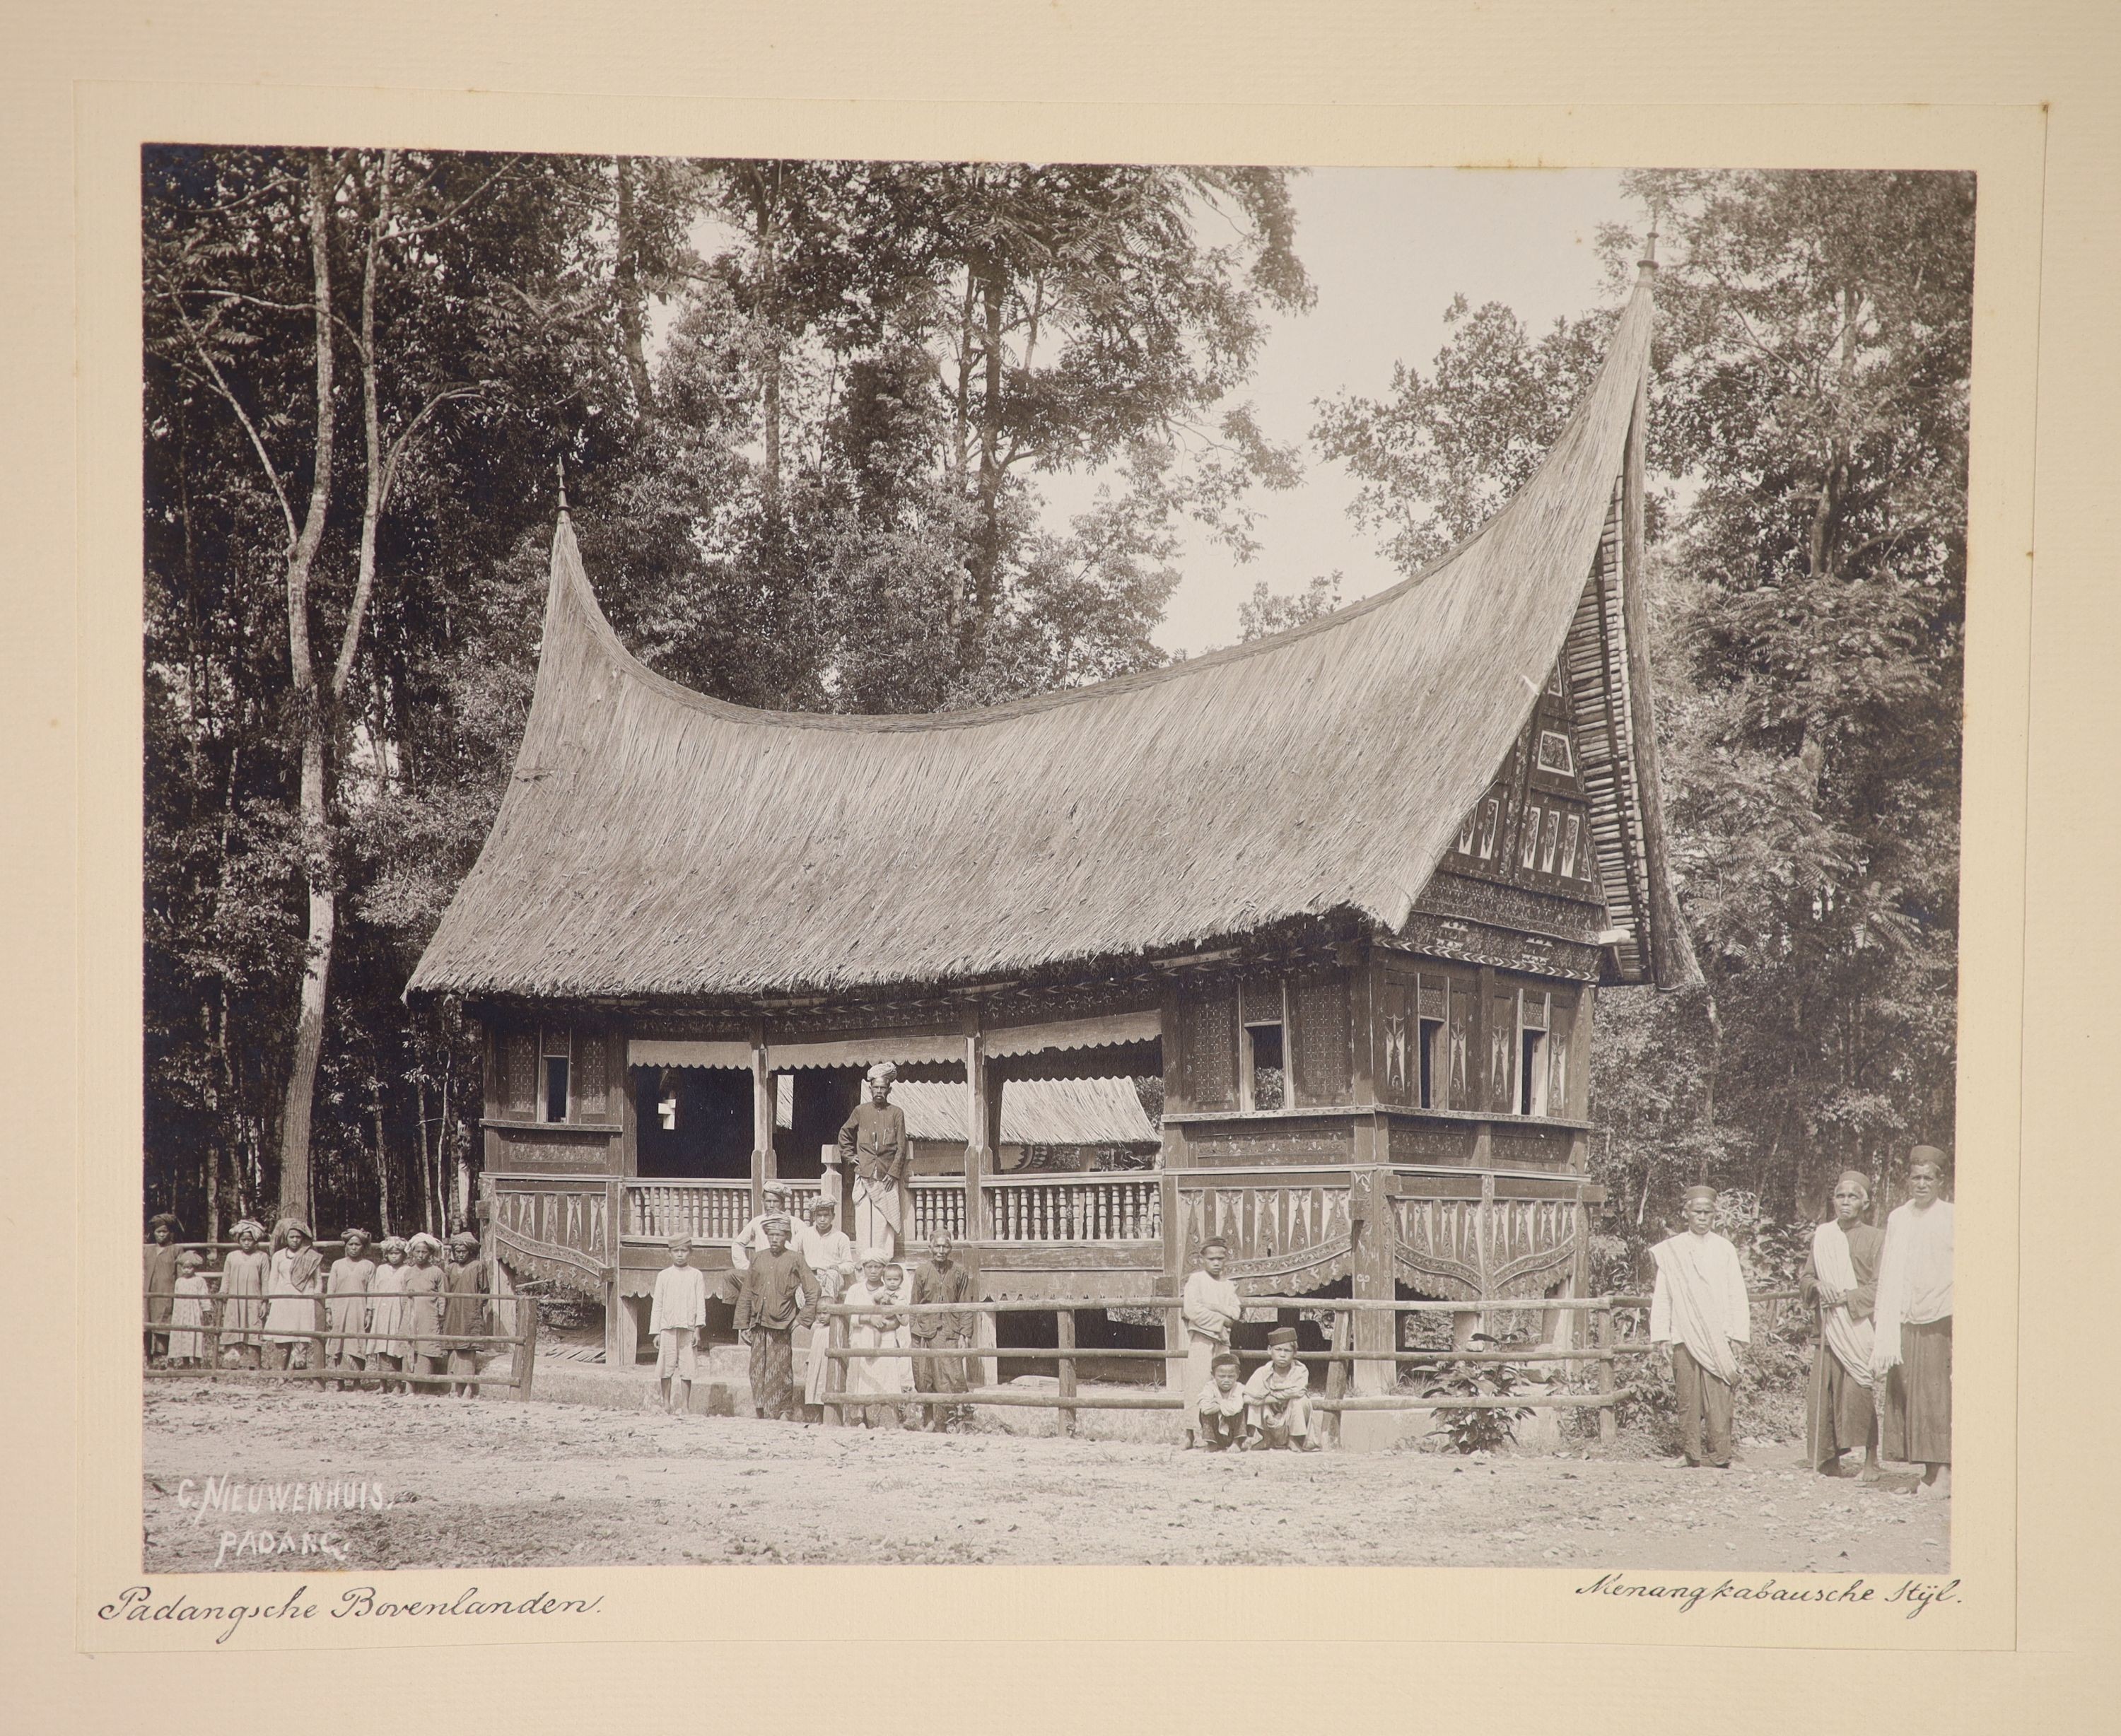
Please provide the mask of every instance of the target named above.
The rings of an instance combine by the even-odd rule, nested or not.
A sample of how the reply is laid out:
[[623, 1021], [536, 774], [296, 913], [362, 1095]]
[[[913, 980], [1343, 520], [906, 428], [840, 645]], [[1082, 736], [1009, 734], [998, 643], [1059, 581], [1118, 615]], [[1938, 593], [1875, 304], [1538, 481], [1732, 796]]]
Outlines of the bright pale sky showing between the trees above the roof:
[[[1383, 396], [1396, 360], [1427, 373], [1459, 293], [1474, 307], [1506, 303], [1533, 331], [1595, 307], [1599, 225], [1642, 223], [1618, 172], [1606, 170], [1313, 170], [1294, 182], [1294, 199], [1296, 252], [1317, 305], [1275, 322], [1239, 396], [1251, 398], [1268, 439], [1304, 443], [1304, 479], [1258, 496], [1262, 549], [1249, 564], [1192, 538], [1156, 634], [1167, 651], [1234, 642], [1237, 606], [1262, 579], [1296, 591], [1338, 568], [1343, 602], [1398, 579], [1347, 517], [1353, 479], [1309, 443], [1313, 401], [1340, 390]], [[1067, 507], [1056, 479], [1041, 483]]]

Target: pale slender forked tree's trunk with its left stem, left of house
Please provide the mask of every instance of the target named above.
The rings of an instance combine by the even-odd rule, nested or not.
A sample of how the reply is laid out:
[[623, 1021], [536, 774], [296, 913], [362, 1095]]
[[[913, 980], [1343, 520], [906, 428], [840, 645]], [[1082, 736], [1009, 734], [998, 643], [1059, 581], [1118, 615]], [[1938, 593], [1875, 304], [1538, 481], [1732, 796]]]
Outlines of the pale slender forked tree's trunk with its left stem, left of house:
[[301, 867], [310, 886], [310, 933], [303, 941], [301, 994], [295, 1011], [295, 1051], [280, 1115], [280, 1204], [310, 1215], [310, 1111], [316, 1066], [325, 1049], [325, 1003], [331, 984], [331, 947], [337, 928], [329, 793], [325, 789], [325, 693], [310, 653], [310, 568], [325, 541], [331, 502], [331, 197], [337, 174], [322, 153], [310, 157], [305, 216], [310, 227], [312, 316], [316, 346], [316, 439], [312, 443], [310, 507], [286, 562], [286, 638], [295, 704], [301, 710]]

